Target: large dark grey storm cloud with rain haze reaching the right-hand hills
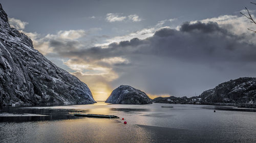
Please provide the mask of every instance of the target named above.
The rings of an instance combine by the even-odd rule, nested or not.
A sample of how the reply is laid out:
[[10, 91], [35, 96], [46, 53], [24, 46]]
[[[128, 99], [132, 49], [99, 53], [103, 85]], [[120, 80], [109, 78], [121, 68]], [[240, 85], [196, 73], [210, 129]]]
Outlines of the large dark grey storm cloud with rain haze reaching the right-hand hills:
[[[113, 88], [130, 84], [150, 94], [194, 96], [232, 78], [254, 75], [256, 47], [246, 41], [214, 22], [187, 22], [179, 31], [161, 28], [152, 37], [112, 43], [108, 48], [72, 49], [76, 42], [52, 45], [62, 48], [56, 50], [59, 56], [73, 64], [83, 61], [114, 71], [118, 78], [109, 82]], [[115, 57], [129, 62], [104, 61]]]

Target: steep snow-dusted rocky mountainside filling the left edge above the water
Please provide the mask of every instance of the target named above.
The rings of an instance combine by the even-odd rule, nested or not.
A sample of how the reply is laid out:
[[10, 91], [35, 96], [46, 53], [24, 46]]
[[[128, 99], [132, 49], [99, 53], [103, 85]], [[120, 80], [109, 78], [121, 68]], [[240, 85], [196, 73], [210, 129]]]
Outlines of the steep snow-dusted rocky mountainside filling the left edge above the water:
[[87, 85], [33, 48], [11, 28], [0, 5], [0, 105], [95, 103]]

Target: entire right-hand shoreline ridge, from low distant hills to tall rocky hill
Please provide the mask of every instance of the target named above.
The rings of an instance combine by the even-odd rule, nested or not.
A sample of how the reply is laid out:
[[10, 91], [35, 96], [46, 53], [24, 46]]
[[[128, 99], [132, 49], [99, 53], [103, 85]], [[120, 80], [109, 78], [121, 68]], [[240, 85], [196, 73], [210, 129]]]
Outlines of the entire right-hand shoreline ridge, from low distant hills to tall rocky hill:
[[238, 107], [256, 107], [256, 78], [240, 77], [220, 83], [213, 89], [204, 91], [199, 96], [157, 97], [156, 103], [183, 103], [208, 105], [236, 105]]

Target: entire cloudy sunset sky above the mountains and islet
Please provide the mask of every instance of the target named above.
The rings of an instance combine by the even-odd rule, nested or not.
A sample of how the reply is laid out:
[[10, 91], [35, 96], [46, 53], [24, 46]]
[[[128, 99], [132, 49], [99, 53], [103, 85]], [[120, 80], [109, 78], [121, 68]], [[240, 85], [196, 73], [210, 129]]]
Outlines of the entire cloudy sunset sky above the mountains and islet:
[[0, 0], [34, 48], [85, 82], [95, 100], [119, 85], [151, 98], [195, 96], [256, 76], [251, 1]]

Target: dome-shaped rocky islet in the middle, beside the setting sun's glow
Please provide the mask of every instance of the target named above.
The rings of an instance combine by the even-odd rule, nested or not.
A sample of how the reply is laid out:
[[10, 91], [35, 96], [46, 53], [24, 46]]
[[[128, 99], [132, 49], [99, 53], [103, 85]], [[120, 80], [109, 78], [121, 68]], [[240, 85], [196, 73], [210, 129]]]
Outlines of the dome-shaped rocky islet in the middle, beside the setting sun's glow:
[[140, 90], [129, 85], [121, 85], [111, 93], [105, 102], [114, 104], [150, 104], [152, 100]]

